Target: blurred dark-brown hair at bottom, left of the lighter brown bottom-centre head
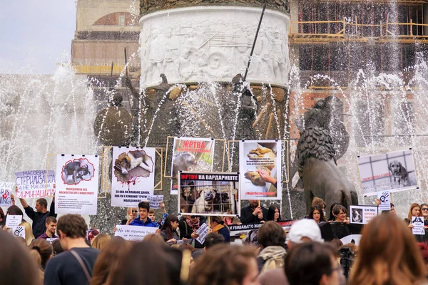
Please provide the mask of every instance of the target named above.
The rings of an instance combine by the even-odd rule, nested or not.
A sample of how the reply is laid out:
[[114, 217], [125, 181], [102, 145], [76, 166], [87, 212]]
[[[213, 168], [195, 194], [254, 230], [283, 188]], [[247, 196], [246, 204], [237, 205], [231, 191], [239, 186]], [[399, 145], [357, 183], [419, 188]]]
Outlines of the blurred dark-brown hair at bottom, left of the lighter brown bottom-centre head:
[[135, 243], [119, 260], [108, 285], [179, 285], [181, 260], [178, 249], [149, 242]]

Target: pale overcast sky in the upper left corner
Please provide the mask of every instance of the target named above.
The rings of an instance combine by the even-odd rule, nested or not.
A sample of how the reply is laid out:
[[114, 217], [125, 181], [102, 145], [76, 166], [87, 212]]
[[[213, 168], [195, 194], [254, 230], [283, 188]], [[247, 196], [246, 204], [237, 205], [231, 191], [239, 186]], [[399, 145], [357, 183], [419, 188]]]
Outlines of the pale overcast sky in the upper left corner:
[[54, 73], [75, 30], [75, 0], [1, 1], [0, 73]]

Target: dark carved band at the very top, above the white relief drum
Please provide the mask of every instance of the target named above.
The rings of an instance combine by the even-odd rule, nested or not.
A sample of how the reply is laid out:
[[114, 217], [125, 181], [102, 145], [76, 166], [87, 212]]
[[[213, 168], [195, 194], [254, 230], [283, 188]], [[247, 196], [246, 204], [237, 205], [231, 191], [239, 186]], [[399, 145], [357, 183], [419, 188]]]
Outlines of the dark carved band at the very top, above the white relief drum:
[[[261, 0], [140, 0], [141, 16], [151, 11], [173, 9], [196, 5], [239, 4], [240, 6], [263, 6], [265, 1]], [[290, 13], [288, 0], [267, 0], [267, 7]]]

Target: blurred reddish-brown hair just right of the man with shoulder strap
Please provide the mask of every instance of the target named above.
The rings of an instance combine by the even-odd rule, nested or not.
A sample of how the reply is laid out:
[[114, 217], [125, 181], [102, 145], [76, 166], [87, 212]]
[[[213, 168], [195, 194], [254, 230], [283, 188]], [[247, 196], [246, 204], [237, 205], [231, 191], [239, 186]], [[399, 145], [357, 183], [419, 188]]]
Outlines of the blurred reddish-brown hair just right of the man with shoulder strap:
[[131, 242], [121, 237], [113, 237], [108, 240], [93, 266], [91, 285], [113, 284], [111, 283], [113, 274], [118, 271], [120, 260], [128, 254], [131, 246]]

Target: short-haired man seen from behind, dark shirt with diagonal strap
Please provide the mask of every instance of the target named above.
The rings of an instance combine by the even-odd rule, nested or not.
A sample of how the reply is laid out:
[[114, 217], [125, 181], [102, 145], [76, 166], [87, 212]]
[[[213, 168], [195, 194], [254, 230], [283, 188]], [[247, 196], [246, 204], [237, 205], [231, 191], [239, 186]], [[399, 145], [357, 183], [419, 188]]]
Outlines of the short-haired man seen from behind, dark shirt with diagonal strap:
[[66, 214], [58, 219], [57, 229], [61, 247], [68, 252], [48, 261], [44, 285], [87, 284], [99, 251], [86, 244], [85, 220], [77, 214]]

